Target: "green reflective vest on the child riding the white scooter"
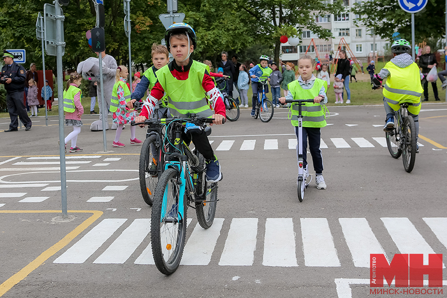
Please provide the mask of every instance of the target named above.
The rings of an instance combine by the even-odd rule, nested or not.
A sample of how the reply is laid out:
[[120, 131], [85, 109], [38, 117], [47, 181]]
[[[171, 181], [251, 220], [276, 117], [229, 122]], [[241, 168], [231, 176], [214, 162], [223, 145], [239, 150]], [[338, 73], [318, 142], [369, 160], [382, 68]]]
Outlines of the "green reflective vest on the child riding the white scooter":
[[[299, 85], [298, 80], [294, 80], [288, 84], [288, 89], [294, 99], [311, 99], [317, 96], [321, 87], [327, 82], [322, 79], [315, 78], [312, 88], [303, 89]], [[298, 126], [298, 104], [292, 104], [292, 125]], [[325, 113], [319, 103], [306, 102], [301, 106], [302, 126], [303, 127], [325, 127]]]

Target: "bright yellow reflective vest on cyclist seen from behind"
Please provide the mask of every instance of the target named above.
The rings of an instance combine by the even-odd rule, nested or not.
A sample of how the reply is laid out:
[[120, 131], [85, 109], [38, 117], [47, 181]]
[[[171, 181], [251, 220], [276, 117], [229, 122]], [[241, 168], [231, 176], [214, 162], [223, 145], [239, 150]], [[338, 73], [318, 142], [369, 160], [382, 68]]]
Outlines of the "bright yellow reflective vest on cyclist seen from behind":
[[384, 69], [389, 72], [383, 88], [384, 100], [394, 111], [399, 110], [400, 103], [406, 102], [408, 112], [418, 115], [424, 91], [418, 65], [413, 62], [406, 68], [399, 68], [390, 61]]

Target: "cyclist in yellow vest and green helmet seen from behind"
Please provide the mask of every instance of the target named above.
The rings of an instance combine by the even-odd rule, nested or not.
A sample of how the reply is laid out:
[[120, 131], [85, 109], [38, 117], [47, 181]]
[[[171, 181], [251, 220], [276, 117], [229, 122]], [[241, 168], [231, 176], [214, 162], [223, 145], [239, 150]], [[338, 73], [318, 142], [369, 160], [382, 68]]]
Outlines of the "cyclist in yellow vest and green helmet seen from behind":
[[383, 88], [383, 105], [386, 112], [386, 124], [383, 131], [394, 129], [394, 113], [400, 108], [400, 103], [408, 103], [408, 115], [412, 116], [416, 125], [416, 152], [419, 152], [419, 111], [421, 110], [421, 95], [424, 89], [421, 80], [424, 75], [413, 62], [411, 45], [405, 39], [399, 39], [391, 45], [394, 58], [391, 59], [378, 74], [373, 76], [374, 88], [380, 88], [386, 78]]

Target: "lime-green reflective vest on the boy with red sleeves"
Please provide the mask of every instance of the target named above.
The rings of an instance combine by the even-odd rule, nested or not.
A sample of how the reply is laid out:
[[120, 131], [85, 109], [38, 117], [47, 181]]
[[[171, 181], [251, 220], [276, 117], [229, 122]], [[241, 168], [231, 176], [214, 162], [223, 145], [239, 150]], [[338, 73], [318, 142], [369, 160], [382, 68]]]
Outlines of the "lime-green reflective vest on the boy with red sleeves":
[[188, 118], [191, 114], [201, 117], [211, 117], [214, 114], [202, 87], [205, 70], [210, 71], [207, 65], [193, 61], [186, 80], [175, 78], [167, 65], [156, 72], [158, 82], [166, 92], [165, 96], [168, 96], [171, 115]]

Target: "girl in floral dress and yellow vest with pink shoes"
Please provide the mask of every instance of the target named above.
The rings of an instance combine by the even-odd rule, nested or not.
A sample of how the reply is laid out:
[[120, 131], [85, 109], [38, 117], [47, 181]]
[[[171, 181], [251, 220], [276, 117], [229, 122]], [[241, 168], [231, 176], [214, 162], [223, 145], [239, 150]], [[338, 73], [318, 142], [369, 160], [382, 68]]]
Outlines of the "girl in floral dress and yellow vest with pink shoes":
[[[134, 109], [130, 109], [126, 106], [126, 103], [131, 99], [131, 92], [126, 83], [126, 78], [129, 75], [127, 67], [120, 65], [116, 70], [116, 82], [113, 86], [112, 100], [110, 111], [112, 112], [113, 123], [118, 124], [116, 129], [115, 141], [113, 141], [113, 147], [124, 147], [120, 142], [121, 132], [125, 124], [135, 120], [136, 113]], [[137, 127], [131, 126], [131, 144], [141, 144], [142, 141], [135, 137], [135, 131]]]

